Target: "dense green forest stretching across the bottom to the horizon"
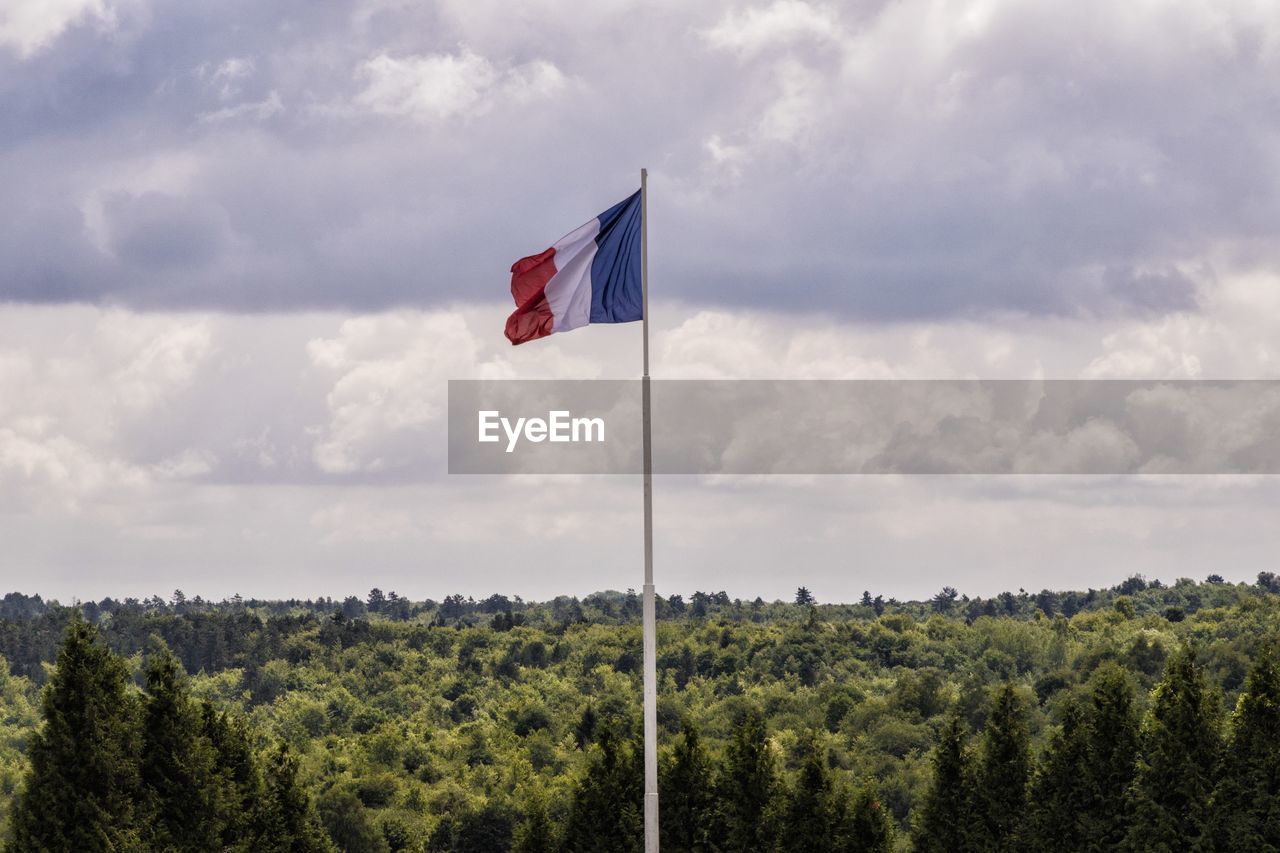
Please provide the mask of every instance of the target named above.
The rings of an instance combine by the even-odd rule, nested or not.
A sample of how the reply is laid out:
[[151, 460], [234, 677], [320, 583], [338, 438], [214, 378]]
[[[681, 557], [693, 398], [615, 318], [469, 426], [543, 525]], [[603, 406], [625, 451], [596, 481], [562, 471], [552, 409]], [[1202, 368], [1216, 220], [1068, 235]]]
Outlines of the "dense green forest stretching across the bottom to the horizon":
[[[1280, 580], [659, 602], [663, 849], [1280, 850]], [[640, 601], [0, 601], [12, 850], [639, 850]]]

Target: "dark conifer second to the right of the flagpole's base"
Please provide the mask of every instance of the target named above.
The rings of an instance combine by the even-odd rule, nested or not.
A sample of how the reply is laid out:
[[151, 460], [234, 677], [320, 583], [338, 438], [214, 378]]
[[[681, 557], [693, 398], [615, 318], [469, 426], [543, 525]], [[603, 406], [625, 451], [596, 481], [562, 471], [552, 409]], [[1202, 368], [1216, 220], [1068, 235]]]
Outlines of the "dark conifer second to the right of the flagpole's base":
[[716, 783], [717, 838], [727, 853], [767, 850], [773, 844], [778, 776], [759, 711], [733, 726]]

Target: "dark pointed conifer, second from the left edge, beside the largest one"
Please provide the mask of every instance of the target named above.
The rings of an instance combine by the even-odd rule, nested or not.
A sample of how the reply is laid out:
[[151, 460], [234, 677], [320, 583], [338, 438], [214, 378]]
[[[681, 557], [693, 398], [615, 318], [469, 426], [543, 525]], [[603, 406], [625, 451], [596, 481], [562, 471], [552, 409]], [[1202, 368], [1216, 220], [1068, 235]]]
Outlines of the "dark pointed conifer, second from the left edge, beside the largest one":
[[146, 666], [140, 830], [151, 849], [216, 850], [223, 826], [215, 763], [182, 665], [159, 638]]

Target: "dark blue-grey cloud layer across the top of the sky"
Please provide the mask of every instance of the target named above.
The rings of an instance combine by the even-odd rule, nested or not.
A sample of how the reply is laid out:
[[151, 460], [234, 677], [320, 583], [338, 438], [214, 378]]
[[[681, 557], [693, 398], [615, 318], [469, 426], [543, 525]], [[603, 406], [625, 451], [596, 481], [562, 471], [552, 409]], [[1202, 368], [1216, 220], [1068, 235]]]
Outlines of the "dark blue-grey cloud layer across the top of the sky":
[[648, 164], [686, 301], [1194, 307], [1276, 260], [1280, 20], [1085, 6], [122, 5], [0, 46], [0, 298], [490, 298]]

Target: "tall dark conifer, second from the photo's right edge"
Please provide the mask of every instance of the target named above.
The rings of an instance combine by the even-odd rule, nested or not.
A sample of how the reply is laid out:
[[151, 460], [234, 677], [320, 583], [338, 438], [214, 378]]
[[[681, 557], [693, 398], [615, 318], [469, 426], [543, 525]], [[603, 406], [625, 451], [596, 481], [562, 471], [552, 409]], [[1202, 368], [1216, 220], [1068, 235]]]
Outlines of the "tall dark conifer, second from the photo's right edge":
[[1220, 719], [1217, 697], [1204, 684], [1194, 651], [1171, 656], [1143, 722], [1130, 797], [1130, 849], [1172, 853], [1207, 840]]

